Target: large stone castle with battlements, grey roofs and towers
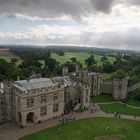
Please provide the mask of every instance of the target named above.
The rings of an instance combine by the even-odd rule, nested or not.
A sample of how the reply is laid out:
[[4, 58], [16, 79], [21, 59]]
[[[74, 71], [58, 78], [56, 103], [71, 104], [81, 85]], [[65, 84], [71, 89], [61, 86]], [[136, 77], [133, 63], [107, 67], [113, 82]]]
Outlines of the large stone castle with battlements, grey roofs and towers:
[[106, 93], [116, 100], [127, 96], [127, 79], [103, 81], [99, 73], [78, 66], [75, 73], [68, 73], [67, 67], [62, 73], [61, 77], [1, 83], [0, 123], [16, 121], [26, 127], [62, 115], [70, 101], [88, 108], [91, 96]]

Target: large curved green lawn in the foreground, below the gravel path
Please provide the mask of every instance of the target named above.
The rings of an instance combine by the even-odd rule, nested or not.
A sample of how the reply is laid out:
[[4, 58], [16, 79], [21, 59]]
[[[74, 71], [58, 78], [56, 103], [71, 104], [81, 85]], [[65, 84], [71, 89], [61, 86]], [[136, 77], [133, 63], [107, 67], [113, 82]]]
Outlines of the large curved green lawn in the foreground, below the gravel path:
[[[106, 128], [109, 127], [108, 130]], [[60, 129], [61, 128], [61, 129]], [[89, 118], [55, 126], [27, 135], [20, 140], [139, 140], [140, 123], [136, 121]]]

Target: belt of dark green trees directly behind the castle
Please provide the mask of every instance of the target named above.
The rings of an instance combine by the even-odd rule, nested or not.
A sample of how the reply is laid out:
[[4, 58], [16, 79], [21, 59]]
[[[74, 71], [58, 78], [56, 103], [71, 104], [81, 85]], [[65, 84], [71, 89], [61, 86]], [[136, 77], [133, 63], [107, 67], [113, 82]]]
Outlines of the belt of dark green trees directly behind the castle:
[[[57, 60], [51, 58], [51, 51], [44, 49], [14, 48], [11, 49], [21, 59], [21, 64], [17, 65], [18, 59], [12, 58], [11, 62], [0, 59], [0, 80], [16, 80], [18, 76], [21, 79], [29, 78], [32, 73], [41, 74], [42, 77], [52, 77], [62, 75], [62, 67], [67, 66], [69, 72], [74, 72], [76, 65], [82, 64], [72, 57], [65, 64], [60, 64]], [[63, 50], [56, 51], [59, 55], [64, 55]], [[94, 55], [90, 55], [85, 60], [86, 67], [91, 72], [114, 73], [112, 78], [123, 78], [129, 76], [129, 84], [134, 84], [140, 79], [140, 57], [133, 54], [120, 54], [114, 56], [115, 61], [111, 63], [108, 56], [104, 54], [101, 58], [102, 65], [97, 65]], [[41, 60], [41, 61], [40, 61]]]

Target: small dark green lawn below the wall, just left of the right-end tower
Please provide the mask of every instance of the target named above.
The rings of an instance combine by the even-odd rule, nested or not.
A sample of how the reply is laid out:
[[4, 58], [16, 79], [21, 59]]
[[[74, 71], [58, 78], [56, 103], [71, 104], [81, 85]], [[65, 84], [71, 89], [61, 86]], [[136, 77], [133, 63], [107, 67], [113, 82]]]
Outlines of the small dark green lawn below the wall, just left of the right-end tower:
[[105, 102], [113, 102], [114, 99], [111, 95], [98, 95], [95, 97], [92, 97], [93, 101], [95, 103], [105, 103]]

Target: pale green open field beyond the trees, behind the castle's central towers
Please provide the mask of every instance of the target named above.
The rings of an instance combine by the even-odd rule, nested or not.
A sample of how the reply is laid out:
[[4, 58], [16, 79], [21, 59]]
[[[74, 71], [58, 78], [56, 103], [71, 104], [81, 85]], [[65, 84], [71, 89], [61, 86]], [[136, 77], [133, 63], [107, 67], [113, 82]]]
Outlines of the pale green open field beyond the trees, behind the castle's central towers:
[[[60, 62], [61, 64], [64, 64], [67, 61], [70, 61], [70, 59], [72, 57], [76, 57], [78, 61], [80, 61], [83, 66], [85, 66], [85, 59], [87, 59], [88, 57], [90, 57], [91, 54], [86, 53], [86, 52], [79, 52], [79, 53], [72, 53], [72, 52], [67, 52], [65, 53], [64, 56], [59, 56], [56, 53], [52, 53], [51, 57], [56, 59], [58, 62]], [[94, 55], [94, 54], [93, 54]], [[94, 55], [95, 60], [97, 61], [97, 65], [102, 65], [101, 63], [101, 55]], [[108, 57], [108, 60], [113, 63], [115, 61], [114, 57]]]

